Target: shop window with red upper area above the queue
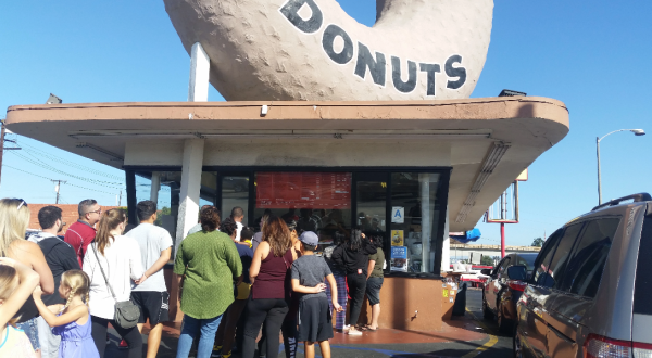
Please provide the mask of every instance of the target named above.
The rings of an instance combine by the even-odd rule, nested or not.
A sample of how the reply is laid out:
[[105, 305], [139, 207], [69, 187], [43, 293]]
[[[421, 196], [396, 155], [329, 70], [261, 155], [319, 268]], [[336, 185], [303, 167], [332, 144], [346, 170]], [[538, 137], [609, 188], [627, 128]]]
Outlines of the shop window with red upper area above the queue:
[[351, 172], [256, 172], [254, 223], [265, 214], [314, 229], [319, 250], [351, 233]]

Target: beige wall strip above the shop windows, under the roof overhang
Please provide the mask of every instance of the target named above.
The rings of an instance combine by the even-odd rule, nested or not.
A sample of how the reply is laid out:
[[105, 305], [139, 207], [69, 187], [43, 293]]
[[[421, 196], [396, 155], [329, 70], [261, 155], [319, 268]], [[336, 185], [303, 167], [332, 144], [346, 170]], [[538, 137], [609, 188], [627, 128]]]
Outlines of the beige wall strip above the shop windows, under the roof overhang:
[[[180, 166], [183, 142], [148, 140], [126, 145], [125, 165]], [[447, 141], [206, 139], [204, 166], [450, 166]]]

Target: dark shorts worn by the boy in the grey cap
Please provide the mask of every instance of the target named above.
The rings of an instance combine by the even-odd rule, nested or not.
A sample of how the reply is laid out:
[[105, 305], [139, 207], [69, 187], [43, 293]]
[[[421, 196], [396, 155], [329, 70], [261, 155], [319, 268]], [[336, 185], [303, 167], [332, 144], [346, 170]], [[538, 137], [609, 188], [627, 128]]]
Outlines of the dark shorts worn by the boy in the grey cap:
[[299, 303], [298, 342], [323, 342], [333, 338], [328, 298], [314, 297]]

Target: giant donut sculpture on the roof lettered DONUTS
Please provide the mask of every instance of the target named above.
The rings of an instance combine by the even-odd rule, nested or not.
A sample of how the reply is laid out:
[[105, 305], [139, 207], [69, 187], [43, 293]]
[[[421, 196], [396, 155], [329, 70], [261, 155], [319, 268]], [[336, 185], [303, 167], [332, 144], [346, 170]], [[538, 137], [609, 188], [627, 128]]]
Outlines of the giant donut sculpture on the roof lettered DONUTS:
[[200, 42], [229, 101], [468, 98], [493, 0], [377, 0], [373, 27], [336, 0], [164, 0], [186, 51]]

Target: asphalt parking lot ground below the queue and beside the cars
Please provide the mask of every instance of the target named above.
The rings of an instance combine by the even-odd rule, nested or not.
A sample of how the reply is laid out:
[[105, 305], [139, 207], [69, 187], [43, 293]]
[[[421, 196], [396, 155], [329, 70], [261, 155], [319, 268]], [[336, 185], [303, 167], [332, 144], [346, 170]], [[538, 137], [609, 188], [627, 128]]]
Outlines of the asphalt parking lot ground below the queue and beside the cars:
[[[468, 290], [466, 297], [466, 315], [451, 322], [452, 327], [446, 332], [402, 332], [396, 330], [379, 330], [375, 336], [368, 336], [360, 344], [349, 341], [340, 334], [331, 341], [333, 357], [366, 358], [366, 357], [396, 357], [396, 358], [448, 358], [448, 357], [480, 357], [480, 358], [504, 358], [512, 356], [512, 337], [498, 333], [498, 327], [493, 321], [482, 320], [482, 292], [480, 290]], [[166, 330], [163, 342], [159, 349], [159, 357], [176, 357], [176, 343], [178, 331]], [[178, 334], [178, 333], [177, 333]], [[147, 335], [142, 335], [147, 345]], [[368, 344], [367, 342], [375, 342]], [[112, 332], [111, 344], [108, 346], [108, 358], [126, 358], [126, 350], [117, 348], [118, 337]], [[383, 343], [387, 342], [387, 343]], [[394, 342], [394, 343], [391, 343]], [[406, 343], [396, 343], [406, 342]], [[145, 349], [145, 347], [143, 347]], [[283, 344], [280, 345], [283, 349]], [[145, 357], [145, 355], [143, 355]], [[191, 356], [193, 357], [193, 356]], [[234, 354], [234, 358], [240, 356]], [[285, 357], [280, 353], [279, 357]], [[300, 349], [297, 357], [303, 357]], [[319, 350], [317, 349], [317, 357]]]

